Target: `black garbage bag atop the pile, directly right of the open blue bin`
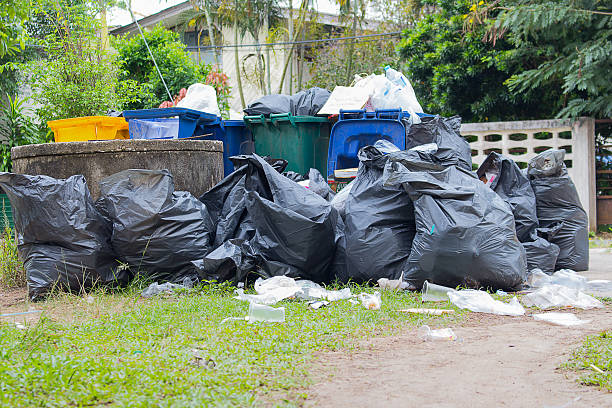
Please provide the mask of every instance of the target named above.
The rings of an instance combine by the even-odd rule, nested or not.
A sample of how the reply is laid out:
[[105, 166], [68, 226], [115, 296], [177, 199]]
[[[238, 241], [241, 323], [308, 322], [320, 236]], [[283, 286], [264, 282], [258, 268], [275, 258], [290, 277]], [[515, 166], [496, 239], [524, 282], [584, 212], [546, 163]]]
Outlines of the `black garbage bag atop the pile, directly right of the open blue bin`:
[[406, 124], [406, 149], [435, 143], [437, 151], [433, 156], [445, 166], [459, 166], [472, 170], [472, 150], [461, 136], [461, 117], [445, 118], [440, 115], [421, 118], [421, 123]]

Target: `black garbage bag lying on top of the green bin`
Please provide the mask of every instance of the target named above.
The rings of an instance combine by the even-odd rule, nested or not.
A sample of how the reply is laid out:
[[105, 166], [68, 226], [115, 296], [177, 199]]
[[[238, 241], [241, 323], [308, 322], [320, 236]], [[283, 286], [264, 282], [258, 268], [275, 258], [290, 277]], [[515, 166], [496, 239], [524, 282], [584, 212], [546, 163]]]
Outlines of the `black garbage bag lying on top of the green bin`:
[[244, 109], [247, 115], [265, 115], [291, 113], [292, 115], [314, 116], [329, 99], [327, 89], [310, 88], [294, 95], [265, 95], [255, 100]]

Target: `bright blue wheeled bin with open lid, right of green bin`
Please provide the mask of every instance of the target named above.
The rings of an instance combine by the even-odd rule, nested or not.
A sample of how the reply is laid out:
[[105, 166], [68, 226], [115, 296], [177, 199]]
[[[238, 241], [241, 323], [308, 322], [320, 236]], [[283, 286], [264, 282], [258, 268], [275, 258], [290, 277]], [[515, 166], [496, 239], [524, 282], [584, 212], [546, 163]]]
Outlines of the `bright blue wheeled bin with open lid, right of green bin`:
[[329, 138], [327, 154], [327, 179], [334, 178], [334, 170], [359, 166], [357, 153], [364, 146], [373, 145], [384, 139], [400, 150], [406, 148], [406, 127], [402, 118], [407, 112], [400, 109], [377, 110], [340, 110], [338, 121], [334, 124]]

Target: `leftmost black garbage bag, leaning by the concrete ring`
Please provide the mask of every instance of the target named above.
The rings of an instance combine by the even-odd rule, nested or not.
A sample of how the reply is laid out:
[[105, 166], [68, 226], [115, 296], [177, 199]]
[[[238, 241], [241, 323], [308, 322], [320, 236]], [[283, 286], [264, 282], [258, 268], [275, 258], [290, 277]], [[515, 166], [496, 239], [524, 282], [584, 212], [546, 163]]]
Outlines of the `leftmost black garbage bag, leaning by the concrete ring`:
[[0, 173], [0, 187], [13, 207], [32, 300], [54, 287], [79, 292], [94, 284], [127, 283], [111, 249], [111, 225], [96, 209], [83, 176]]

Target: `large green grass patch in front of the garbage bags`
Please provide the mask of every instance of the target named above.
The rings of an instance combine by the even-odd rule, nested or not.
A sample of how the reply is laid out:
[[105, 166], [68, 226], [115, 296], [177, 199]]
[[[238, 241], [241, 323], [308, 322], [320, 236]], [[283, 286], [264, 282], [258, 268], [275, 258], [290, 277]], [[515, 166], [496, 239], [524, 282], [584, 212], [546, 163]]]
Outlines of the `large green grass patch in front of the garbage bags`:
[[[362, 290], [374, 289], [352, 287]], [[227, 285], [138, 294], [134, 285], [98, 290], [93, 301], [56, 294], [31, 305], [45, 312], [26, 329], [0, 322], [0, 406], [296, 406], [316, 352], [350, 351], [408, 326], [448, 327], [466, 315], [408, 315], [397, 310], [418, 306], [419, 294], [383, 292], [378, 311], [346, 300], [318, 310], [284, 301], [285, 323], [221, 323], [248, 310]]]

